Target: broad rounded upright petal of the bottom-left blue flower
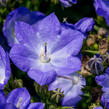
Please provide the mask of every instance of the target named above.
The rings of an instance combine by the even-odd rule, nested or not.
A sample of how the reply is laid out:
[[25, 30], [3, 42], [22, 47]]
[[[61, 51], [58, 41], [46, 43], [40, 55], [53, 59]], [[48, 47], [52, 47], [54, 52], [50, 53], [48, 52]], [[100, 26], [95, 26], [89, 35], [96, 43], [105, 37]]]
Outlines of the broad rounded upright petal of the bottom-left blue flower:
[[6, 102], [19, 109], [25, 109], [30, 103], [29, 92], [26, 88], [16, 88], [7, 95]]

